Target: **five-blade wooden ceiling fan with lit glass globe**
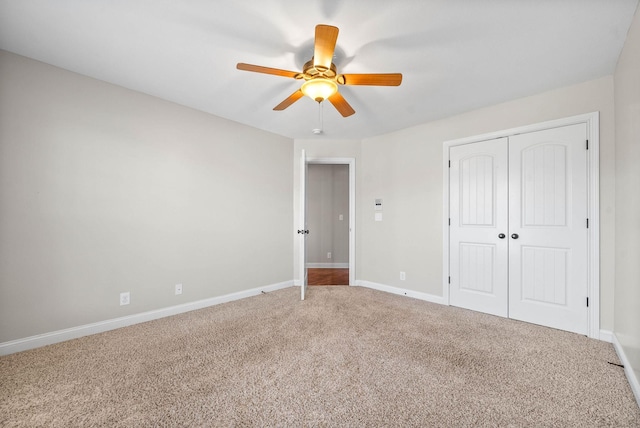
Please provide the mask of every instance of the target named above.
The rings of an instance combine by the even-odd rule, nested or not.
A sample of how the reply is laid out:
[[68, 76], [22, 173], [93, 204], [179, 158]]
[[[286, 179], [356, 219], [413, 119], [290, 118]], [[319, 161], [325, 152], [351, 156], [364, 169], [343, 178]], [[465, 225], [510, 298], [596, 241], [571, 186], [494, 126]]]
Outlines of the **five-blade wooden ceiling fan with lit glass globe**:
[[275, 106], [274, 110], [284, 110], [307, 95], [318, 103], [328, 99], [344, 117], [351, 116], [355, 110], [338, 92], [338, 85], [399, 86], [402, 83], [401, 73], [338, 74], [336, 66], [332, 62], [337, 40], [337, 27], [317, 25], [313, 57], [303, 66], [301, 73], [242, 62], [238, 63], [236, 68], [304, 80], [300, 89]]

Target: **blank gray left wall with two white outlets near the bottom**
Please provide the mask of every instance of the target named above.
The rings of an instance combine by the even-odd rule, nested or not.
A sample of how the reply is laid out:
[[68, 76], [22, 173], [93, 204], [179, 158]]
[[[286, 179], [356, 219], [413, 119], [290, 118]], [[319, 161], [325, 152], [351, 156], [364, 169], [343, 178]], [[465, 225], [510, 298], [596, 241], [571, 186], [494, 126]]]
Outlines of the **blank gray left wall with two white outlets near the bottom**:
[[290, 281], [292, 148], [0, 52], [0, 342]]

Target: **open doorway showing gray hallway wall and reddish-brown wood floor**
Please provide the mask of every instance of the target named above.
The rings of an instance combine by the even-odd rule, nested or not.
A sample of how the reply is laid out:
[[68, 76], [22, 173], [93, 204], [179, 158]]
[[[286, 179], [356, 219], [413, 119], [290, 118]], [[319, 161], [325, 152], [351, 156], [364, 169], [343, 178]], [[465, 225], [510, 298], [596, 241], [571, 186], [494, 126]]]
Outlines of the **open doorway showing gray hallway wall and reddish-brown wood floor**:
[[349, 285], [349, 165], [309, 163], [307, 170], [308, 285]]

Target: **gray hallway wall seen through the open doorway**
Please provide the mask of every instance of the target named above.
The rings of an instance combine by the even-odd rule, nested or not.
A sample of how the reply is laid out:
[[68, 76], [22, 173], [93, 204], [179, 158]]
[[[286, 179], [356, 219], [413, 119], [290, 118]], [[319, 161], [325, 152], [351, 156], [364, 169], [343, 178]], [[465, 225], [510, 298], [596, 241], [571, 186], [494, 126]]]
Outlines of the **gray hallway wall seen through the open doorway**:
[[[349, 166], [310, 164], [307, 263], [349, 263]], [[340, 220], [342, 215], [342, 220]], [[331, 252], [331, 258], [327, 253]]]

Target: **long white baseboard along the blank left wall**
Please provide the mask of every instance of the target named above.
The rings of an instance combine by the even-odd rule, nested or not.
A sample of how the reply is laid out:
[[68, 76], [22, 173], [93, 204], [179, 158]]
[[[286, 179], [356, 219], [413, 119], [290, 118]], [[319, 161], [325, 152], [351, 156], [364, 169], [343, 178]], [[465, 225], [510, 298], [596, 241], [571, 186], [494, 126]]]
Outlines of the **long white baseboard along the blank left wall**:
[[252, 288], [249, 290], [238, 291], [237, 293], [226, 294], [224, 296], [212, 297], [209, 299], [197, 300], [195, 302], [184, 303], [182, 305], [169, 306], [167, 308], [156, 309], [153, 311], [142, 312], [139, 314], [128, 315], [125, 317], [114, 318], [106, 321], [100, 321], [91, 324], [85, 324], [77, 327], [67, 328], [64, 330], [52, 331], [49, 333], [38, 334], [36, 336], [25, 337], [23, 339], [11, 340], [9, 342], [0, 343], [0, 355], [13, 354], [15, 352], [26, 351], [29, 349], [39, 348], [41, 346], [52, 345], [54, 343], [64, 342], [70, 339], [88, 336], [91, 334], [102, 333], [117, 328], [126, 327], [133, 324], [152, 321], [159, 318], [169, 317], [181, 314], [183, 312], [203, 309], [209, 306], [219, 305], [221, 303], [231, 302], [233, 300], [244, 299], [246, 297], [256, 296], [263, 291], [275, 291], [282, 288], [293, 286], [293, 281], [285, 281], [277, 284], [267, 285], [265, 287]]

